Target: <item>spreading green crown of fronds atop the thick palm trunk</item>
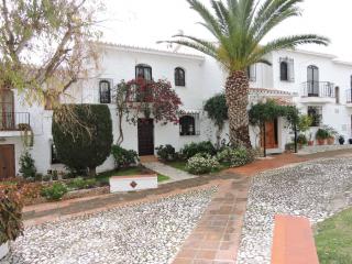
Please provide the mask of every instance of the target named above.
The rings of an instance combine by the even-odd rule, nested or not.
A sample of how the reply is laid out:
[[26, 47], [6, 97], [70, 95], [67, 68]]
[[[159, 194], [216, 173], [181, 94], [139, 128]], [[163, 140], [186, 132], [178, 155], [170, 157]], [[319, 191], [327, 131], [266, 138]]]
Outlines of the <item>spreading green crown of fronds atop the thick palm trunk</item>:
[[327, 45], [329, 40], [315, 34], [279, 37], [266, 45], [262, 40], [283, 21], [301, 14], [304, 0], [209, 0], [211, 10], [200, 0], [187, 0], [202, 18], [200, 24], [217, 40], [217, 44], [189, 35], [167, 43], [177, 43], [204, 52], [218, 59], [229, 70], [243, 70], [251, 64], [270, 64], [264, 56], [301, 44]]

